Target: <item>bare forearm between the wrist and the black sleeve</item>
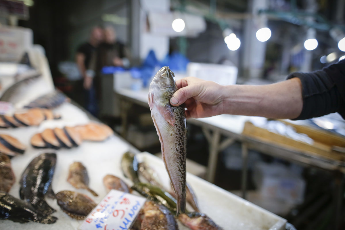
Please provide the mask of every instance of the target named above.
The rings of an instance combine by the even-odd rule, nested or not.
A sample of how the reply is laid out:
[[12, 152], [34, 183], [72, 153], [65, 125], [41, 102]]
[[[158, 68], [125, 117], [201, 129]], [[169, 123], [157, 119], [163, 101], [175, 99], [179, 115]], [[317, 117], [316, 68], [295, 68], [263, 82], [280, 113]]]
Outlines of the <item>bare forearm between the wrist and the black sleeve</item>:
[[262, 86], [225, 86], [225, 90], [227, 114], [294, 119], [303, 108], [298, 78]]

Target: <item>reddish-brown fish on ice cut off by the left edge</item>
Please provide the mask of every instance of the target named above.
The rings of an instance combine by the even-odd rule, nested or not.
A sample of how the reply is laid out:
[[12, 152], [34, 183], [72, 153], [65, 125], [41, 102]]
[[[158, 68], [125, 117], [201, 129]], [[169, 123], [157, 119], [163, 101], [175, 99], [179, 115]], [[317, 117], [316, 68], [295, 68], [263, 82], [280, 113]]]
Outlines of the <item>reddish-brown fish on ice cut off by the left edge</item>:
[[0, 191], [9, 192], [12, 185], [16, 182], [10, 158], [0, 152]]

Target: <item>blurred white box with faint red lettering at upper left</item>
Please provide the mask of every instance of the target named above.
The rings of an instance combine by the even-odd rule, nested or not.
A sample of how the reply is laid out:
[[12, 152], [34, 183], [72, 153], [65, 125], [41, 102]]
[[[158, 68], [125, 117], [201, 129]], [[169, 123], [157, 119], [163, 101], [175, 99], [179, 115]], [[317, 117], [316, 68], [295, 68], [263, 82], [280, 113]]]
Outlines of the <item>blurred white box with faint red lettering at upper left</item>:
[[18, 62], [32, 41], [31, 29], [0, 26], [0, 61]]

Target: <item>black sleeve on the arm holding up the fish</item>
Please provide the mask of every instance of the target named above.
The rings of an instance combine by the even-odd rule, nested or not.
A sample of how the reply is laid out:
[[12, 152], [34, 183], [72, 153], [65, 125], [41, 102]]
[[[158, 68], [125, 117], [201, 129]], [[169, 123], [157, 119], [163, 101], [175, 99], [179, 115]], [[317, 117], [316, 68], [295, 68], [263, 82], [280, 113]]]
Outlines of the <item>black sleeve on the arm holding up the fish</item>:
[[322, 70], [290, 74], [302, 82], [303, 109], [293, 120], [321, 117], [338, 112], [345, 119], [345, 60]]

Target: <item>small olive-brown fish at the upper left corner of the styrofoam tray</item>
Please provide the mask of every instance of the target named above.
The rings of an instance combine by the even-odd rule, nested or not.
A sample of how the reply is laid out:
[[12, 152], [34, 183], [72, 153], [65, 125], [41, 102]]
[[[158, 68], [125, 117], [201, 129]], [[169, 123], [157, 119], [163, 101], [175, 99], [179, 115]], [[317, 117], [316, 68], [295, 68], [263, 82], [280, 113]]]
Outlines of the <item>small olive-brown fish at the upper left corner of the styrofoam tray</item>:
[[125, 177], [133, 183], [139, 183], [138, 178], [138, 160], [132, 152], [125, 152], [121, 159], [121, 169]]

